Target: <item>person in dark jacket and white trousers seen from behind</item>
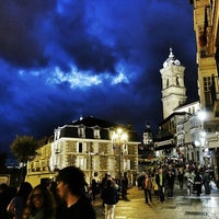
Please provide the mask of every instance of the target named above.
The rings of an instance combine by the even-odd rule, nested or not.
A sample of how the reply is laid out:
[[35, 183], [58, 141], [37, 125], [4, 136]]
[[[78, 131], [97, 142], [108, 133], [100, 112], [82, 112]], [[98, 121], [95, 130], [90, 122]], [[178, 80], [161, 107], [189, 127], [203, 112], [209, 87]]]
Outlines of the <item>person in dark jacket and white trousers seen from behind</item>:
[[118, 201], [118, 194], [112, 180], [106, 181], [106, 186], [101, 195], [105, 206], [105, 219], [114, 219], [115, 207]]

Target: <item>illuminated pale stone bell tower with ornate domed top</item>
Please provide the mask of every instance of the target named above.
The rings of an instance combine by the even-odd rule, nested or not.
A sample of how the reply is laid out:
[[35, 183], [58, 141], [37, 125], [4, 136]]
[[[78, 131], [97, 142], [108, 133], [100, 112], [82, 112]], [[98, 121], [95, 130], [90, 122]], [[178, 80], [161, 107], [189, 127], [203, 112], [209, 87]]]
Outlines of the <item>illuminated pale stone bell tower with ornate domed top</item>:
[[170, 48], [169, 58], [163, 62], [163, 68], [160, 70], [162, 78], [163, 119], [186, 102], [184, 70], [185, 67], [174, 57], [173, 50]]

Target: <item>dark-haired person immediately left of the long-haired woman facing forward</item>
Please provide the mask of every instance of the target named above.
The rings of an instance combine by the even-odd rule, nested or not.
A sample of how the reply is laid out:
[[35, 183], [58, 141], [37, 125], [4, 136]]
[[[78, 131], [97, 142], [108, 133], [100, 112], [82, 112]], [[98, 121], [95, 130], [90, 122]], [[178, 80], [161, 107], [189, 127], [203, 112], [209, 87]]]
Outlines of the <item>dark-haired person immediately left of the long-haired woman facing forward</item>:
[[22, 182], [20, 184], [16, 195], [11, 199], [7, 207], [7, 211], [13, 219], [22, 219], [24, 207], [32, 189], [33, 187], [28, 182]]

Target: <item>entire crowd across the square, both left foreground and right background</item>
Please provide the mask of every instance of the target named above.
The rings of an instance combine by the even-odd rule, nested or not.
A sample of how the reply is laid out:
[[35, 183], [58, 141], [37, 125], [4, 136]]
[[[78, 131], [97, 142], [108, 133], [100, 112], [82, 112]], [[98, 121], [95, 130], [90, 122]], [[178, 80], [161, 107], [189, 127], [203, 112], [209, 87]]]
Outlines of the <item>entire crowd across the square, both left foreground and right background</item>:
[[[138, 178], [139, 189], [143, 189], [145, 201], [152, 197], [165, 201], [174, 196], [177, 182], [178, 189], [187, 188], [187, 195], [210, 194], [210, 166], [194, 163], [178, 164], [158, 163]], [[94, 219], [93, 203], [100, 195], [105, 219], [114, 219], [117, 201], [128, 200], [128, 178], [126, 173], [120, 178], [105, 174], [102, 182], [94, 178], [89, 186], [84, 173], [68, 166], [59, 171], [56, 182], [39, 184], [35, 187], [22, 182], [18, 188], [0, 185], [0, 218], [2, 219]], [[152, 196], [153, 195], [153, 196]]]

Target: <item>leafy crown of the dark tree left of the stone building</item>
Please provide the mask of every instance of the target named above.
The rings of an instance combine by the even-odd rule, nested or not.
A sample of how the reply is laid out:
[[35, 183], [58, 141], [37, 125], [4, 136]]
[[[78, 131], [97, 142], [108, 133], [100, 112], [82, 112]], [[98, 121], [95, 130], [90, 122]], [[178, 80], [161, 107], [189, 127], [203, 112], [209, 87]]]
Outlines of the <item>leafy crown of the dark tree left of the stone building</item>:
[[11, 143], [11, 151], [15, 158], [24, 164], [27, 163], [31, 157], [36, 154], [38, 142], [33, 136], [16, 136]]

